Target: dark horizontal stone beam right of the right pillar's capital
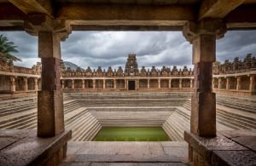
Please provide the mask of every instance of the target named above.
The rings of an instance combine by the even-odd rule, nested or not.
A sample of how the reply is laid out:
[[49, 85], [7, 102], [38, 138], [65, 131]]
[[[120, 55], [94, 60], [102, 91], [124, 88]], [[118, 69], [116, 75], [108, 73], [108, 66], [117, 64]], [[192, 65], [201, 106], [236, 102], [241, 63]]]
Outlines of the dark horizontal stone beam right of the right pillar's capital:
[[230, 30], [256, 29], [256, 5], [241, 5], [224, 20]]

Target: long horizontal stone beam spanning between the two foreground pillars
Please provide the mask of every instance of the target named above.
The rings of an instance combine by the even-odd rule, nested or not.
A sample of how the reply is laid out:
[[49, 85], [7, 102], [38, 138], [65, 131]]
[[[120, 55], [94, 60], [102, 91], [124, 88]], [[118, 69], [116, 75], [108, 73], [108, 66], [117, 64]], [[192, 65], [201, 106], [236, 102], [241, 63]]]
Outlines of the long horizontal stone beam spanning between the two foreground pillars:
[[195, 20], [195, 10], [184, 5], [68, 4], [56, 18], [78, 26], [183, 26]]

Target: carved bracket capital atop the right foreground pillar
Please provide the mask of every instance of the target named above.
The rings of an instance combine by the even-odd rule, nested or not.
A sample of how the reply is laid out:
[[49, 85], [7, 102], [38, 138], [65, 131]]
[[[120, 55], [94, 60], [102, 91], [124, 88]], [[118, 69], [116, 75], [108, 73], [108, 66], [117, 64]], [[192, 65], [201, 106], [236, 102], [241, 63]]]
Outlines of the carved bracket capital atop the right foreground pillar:
[[192, 43], [200, 35], [214, 35], [217, 39], [224, 37], [226, 25], [220, 19], [203, 19], [198, 22], [188, 21], [183, 26], [183, 36]]

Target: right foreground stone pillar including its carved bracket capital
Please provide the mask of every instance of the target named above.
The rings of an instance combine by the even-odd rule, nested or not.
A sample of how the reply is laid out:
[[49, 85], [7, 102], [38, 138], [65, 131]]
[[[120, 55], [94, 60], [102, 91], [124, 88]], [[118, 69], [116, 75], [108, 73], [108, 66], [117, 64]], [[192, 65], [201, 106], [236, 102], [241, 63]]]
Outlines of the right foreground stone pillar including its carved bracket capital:
[[[222, 31], [223, 30], [223, 31]], [[191, 97], [190, 131], [198, 136], [216, 136], [216, 96], [212, 93], [212, 62], [216, 60], [216, 38], [223, 36], [222, 20], [187, 22], [183, 35], [193, 44], [194, 93]]]

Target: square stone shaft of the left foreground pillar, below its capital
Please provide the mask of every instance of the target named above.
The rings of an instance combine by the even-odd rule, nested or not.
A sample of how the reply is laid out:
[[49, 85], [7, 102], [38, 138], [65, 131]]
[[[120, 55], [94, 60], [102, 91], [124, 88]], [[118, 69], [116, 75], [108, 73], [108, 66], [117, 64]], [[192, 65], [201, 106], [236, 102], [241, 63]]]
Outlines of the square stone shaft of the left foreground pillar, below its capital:
[[50, 137], [64, 131], [59, 37], [52, 31], [40, 31], [38, 54], [42, 61], [42, 89], [38, 91], [38, 136]]

